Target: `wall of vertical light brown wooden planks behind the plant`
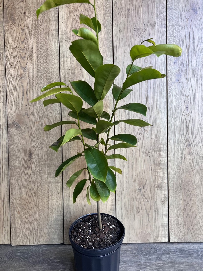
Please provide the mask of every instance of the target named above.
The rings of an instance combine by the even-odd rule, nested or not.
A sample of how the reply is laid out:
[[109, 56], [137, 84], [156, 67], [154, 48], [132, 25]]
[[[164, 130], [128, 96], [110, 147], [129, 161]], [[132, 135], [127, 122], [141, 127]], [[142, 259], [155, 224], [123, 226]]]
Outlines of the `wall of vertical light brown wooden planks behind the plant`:
[[[78, 159], [63, 178], [54, 178], [58, 165], [77, 149], [72, 142], [55, 153], [48, 146], [67, 127], [46, 133], [43, 127], [67, 119], [67, 110], [58, 104], [44, 108], [42, 101], [29, 103], [48, 83], [91, 80], [68, 47], [80, 13], [93, 17], [93, 9], [87, 4], [64, 5], [41, 14], [37, 21], [35, 10], [42, 3], [0, 0], [1, 244], [68, 243], [73, 219], [96, 211], [96, 204], [89, 206], [83, 194], [73, 205], [72, 188], [66, 187], [71, 172], [83, 161]], [[135, 134], [138, 148], [120, 151], [129, 161], [119, 164], [123, 175], [117, 176], [116, 197], [111, 195], [102, 211], [123, 222], [126, 243], [202, 242], [203, 2], [96, 3], [104, 63], [113, 61], [122, 68], [116, 84], [125, 78], [129, 50], [142, 40], [153, 37], [157, 44], [176, 43], [183, 49], [179, 58], [153, 56], [137, 62], [168, 76], [133, 87], [125, 100], [146, 104], [143, 120], [153, 126], [116, 127], [116, 133]], [[107, 105], [112, 102], [110, 93], [106, 100]], [[119, 113], [123, 111], [118, 118]]]

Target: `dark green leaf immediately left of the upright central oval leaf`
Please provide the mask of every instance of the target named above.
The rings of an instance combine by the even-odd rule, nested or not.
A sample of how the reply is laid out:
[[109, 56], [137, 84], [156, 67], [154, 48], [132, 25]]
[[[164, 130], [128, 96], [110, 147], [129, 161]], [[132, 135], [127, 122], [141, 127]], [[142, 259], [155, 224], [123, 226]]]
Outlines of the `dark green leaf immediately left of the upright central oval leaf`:
[[74, 91], [89, 105], [94, 106], [98, 102], [93, 89], [87, 82], [79, 80], [70, 82], [70, 84]]

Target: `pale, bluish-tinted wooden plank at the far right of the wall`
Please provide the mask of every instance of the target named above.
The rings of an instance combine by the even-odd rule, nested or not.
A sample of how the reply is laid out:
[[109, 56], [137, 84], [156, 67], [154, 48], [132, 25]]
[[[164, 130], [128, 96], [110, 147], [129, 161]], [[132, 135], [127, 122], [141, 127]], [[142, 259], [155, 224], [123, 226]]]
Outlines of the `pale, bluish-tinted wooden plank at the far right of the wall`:
[[203, 3], [167, 3], [168, 43], [183, 50], [168, 59], [170, 241], [203, 241]]

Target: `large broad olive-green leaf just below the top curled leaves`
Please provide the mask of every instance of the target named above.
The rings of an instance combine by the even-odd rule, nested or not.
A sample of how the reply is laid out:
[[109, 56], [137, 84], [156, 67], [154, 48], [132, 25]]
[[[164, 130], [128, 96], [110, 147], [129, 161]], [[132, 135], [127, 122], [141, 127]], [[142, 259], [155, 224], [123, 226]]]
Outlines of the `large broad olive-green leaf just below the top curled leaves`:
[[75, 40], [69, 49], [80, 65], [93, 77], [96, 69], [103, 65], [102, 55], [93, 41]]

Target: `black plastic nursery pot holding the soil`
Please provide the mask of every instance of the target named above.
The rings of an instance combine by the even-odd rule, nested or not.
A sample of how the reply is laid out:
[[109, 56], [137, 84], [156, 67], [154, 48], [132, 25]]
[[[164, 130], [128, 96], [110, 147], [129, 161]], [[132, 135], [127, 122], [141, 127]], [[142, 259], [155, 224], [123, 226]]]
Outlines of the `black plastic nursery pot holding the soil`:
[[[80, 218], [84, 218], [86, 216], [88, 215], [83, 215]], [[74, 243], [71, 240], [70, 233], [74, 225], [76, 225], [79, 220], [76, 220], [71, 224], [68, 235], [74, 252], [76, 271], [119, 271], [120, 247], [125, 235], [125, 228], [117, 218], [115, 219], [119, 222], [123, 235], [118, 242], [103, 249], [84, 249]]]

